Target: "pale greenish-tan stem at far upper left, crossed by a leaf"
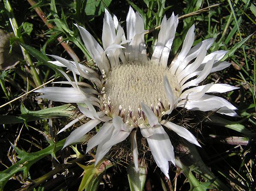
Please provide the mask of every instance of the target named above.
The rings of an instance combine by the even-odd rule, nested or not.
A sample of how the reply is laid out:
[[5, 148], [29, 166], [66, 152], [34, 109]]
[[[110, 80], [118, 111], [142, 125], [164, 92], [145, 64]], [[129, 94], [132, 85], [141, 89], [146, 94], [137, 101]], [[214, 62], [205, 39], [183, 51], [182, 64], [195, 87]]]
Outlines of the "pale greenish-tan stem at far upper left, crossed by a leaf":
[[[10, 23], [11, 23], [11, 26], [12, 26], [12, 30], [13, 30], [15, 36], [18, 37], [17, 29], [19, 28], [19, 26], [18, 26], [17, 21], [15, 19], [15, 16], [14, 16], [14, 13], [13, 13], [13, 10], [12, 10], [12, 6], [11, 6], [9, 0], [4, 0], [4, 5], [5, 5], [5, 8], [7, 10], [8, 16], [9, 16], [9, 20], [10, 20]], [[19, 37], [19, 39], [20, 39], [21, 43], [24, 43], [24, 40], [23, 40], [22, 37]], [[36, 86], [40, 86], [42, 83], [41, 83], [40, 77], [38, 75], [38, 72], [35, 69], [34, 63], [31, 60], [30, 55], [28, 54], [28, 52], [23, 47], [20, 46], [20, 48], [21, 48], [23, 57], [26, 60], [27, 65], [30, 67], [32, 78], [33, 78]]]

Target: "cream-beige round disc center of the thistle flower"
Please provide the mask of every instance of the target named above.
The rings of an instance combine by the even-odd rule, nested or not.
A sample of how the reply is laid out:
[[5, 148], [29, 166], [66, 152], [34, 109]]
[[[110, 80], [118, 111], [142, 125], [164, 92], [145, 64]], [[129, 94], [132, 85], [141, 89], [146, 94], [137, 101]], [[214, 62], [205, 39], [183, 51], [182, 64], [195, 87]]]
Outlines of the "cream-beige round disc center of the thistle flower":
[[121, 116], [125, 122], [136, 125], [143, 113], [140, 103], [151, 107], [157, 117], [169, 109], [169, 101], [163, 85], [167, 76], [177, 99], [180, 85], [169, 69], [150, 63], [127, 62], [113, 68], [105, 77], [102, 88], [103, 109], [109, 116]]

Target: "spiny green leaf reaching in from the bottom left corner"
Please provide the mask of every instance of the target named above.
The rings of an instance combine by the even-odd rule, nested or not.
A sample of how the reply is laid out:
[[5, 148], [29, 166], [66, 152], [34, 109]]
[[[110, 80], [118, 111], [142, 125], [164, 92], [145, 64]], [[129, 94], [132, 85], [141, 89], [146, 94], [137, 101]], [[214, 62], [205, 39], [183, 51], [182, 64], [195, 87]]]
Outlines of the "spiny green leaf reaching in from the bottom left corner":
[[35, 162], [46, 157], [47, 155], [54, 156], [56, 151], [63, 148], [64, 143], [65, 139], [57, 143], [51, 141], [50, 145], [47, 148], [44, 148], [43, 150], [34, 153], [27, 153], [26, 151], [20, 150], [15, 145], [12, 145], [12, 147], [17, 152], [18, 158], [20, 158], [20, 160], [16, 162], [14, 165], [7, 168], [6, 170], [0, 171], [0, 191], [3, 191], [3, 188], [8, 182], [8, 180], [16, 173], [23, 171], [24, 177], [26, 178], [29, 173], [29, 168]]

